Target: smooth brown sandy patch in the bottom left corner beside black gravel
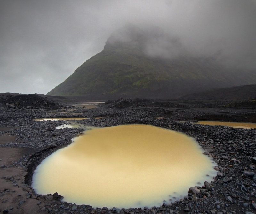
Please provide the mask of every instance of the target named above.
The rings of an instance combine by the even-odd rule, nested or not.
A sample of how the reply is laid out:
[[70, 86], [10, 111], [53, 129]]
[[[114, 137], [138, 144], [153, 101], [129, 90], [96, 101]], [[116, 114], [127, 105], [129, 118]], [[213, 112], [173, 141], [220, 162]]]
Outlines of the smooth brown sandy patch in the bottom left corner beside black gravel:
[[[2, 137], [2, 136], [1, 136]], [[23, 148], [0, 148], [0, 212], [25, 214], [37, 212], [43, 208], [44, 203], [39, 205], [33, 189], [25, 184], [26, 169], [16, 164], [23, 155], [32, 154], [32, 149]]]

